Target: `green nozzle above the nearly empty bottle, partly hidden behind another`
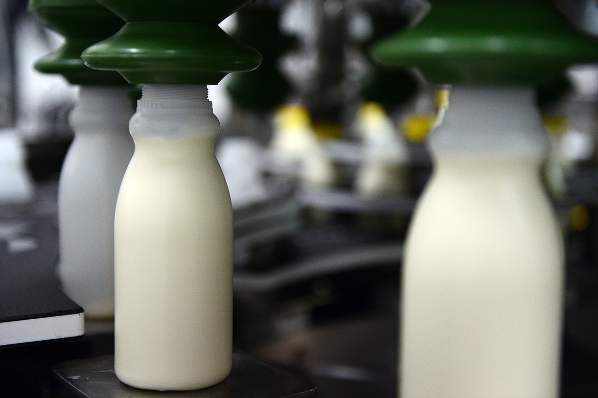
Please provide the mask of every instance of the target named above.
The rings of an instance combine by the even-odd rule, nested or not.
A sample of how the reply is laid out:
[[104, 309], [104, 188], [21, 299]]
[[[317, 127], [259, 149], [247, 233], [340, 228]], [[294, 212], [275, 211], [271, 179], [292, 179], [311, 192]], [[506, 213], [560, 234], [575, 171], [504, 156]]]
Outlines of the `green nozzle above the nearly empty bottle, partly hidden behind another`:
[[124, 22], [93, 0], [30, 0], [29, 11], [45, 26], [65, 36], [65, 43], [35, 62], [45, 74], [61, 74], [71, 84], [126, 84], [115, 72], [94, 71], [81, 52], [120, 29]]

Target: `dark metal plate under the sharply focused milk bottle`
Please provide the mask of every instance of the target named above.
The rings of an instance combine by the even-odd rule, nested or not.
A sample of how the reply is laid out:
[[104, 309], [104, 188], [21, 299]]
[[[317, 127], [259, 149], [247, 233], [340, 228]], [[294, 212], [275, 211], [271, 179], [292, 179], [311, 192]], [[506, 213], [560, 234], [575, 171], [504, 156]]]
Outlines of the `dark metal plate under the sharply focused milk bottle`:
[[129, 387], [114, 373], [114, 356], [103, 356], [54, 366], [54, 374], [69, 391], [83, 398], [303, 398], [315, 385], [247, 354], [233, 353], [230, 375], [213, 387], [194, 391], [150, 391]]

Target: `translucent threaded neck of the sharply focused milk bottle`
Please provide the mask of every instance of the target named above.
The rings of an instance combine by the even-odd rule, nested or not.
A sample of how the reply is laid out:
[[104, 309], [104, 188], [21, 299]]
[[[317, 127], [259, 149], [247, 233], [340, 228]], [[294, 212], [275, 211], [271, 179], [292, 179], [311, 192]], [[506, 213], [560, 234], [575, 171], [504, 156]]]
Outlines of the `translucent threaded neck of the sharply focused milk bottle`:
[[215, 139], [220, 124], [205, 85], [144, 84], [129, 128], [133, 138]]

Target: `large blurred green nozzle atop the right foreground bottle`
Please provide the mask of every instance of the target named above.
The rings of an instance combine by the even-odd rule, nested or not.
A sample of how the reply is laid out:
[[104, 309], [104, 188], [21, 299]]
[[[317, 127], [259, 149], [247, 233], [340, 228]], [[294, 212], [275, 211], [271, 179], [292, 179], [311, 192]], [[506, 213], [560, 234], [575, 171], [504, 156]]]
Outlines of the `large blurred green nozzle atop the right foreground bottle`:
[[546, 84], [598, 60], [548, 0], [432, 0], [413, 28], [374, 45], [375, 62], [417, 66], [437, 84]]

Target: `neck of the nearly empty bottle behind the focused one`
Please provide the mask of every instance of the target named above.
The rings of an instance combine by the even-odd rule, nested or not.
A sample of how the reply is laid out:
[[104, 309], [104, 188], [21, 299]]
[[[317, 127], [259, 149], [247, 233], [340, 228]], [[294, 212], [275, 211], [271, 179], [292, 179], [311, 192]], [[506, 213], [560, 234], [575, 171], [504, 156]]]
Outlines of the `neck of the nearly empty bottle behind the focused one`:
[[78, 101], [69, 115], [76, 135], [87, 133], [124, 133], [133, 115], [128, 85], [82, 85]]

